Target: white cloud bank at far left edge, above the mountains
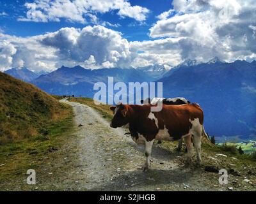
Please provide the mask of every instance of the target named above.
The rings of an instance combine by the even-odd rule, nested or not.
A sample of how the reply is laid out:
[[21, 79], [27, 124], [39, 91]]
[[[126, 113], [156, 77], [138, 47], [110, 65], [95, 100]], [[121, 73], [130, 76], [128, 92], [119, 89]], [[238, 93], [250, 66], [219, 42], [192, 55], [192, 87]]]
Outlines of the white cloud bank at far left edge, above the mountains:
[[0, 69], [27, 67], [52, 70], [57, 60], [54, 49], [40, 44], [42, 36], [20, 38], [0, 33]]

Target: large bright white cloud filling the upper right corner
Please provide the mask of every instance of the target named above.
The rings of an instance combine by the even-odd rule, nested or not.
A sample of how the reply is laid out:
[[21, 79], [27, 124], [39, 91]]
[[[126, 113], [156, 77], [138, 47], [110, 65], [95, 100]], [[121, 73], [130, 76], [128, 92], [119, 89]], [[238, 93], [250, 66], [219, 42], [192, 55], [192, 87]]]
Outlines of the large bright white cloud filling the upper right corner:
[[172, 5], [175, 14], [159, 15], [150, 37], [179, 39], [181, 59], [234, 61], [255, 54], [255, 1], [173, 0]]

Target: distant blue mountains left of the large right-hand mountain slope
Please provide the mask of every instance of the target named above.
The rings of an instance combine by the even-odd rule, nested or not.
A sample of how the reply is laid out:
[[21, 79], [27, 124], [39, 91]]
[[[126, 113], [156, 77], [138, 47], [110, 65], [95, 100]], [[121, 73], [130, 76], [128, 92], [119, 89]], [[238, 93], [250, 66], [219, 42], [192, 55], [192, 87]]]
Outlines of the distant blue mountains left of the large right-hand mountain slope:
[[[84, 69], [81, 66], [68, 68], [62, 66], [56, 71], [32, 80], [31, 83], [40, 87], [50, 94], [86, 96], [92, 98], [95, 94], [93, 85], [96, 82], [108, 82], [108, 77], [113, 77], [114, 82], [152, 82], [159, 79], [158, 71], [148, 71], [143, 69]], [[166, 71], [165, 71], [166, 72]], [[162, 73], [165, 73], [162, 71]], [[147, 74], [150, 73], [150, 74]]]

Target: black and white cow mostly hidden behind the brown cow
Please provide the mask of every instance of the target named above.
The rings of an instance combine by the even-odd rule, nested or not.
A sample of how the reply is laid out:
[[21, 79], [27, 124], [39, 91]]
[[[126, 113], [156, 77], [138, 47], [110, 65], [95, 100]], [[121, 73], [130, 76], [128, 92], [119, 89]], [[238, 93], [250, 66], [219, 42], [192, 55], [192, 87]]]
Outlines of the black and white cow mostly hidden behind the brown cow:
[[[182, 105], [182, 104], [188, 104], [190, 101], [186, 98], [183, 97], [177, 97], [177, 98], [146, 98], [146, 99], [141, 99], [142, 104], [152, 104], [156, 105], [157, 102], [161, 101], [163, 104], [166, 105]], [[161, 140], [158, 140], [158, 144], [161, 144]], [[179, 140], [177, 150], [180, 152], [182, 149], [182, 139]]]

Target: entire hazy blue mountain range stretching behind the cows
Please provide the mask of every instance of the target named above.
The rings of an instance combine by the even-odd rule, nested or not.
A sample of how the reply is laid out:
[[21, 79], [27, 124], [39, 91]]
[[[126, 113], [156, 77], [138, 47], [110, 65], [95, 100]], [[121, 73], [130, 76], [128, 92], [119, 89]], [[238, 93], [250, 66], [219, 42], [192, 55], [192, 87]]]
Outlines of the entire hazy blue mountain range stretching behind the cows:
[[180, 96], [202, 106], [205, 129], [210, 135], [256, 138], [256, 61], [228, 63], [214, 57], [203, 63], [188, 59], [172, 69], [164, 65], [137, 69], [62, 66], [51, 73], [32, 77], [30, 82], [50, 94], [93, 98], [95, 82], [106, 83], [108, 77], [125, 83], [163, 82], [165, 98]]

